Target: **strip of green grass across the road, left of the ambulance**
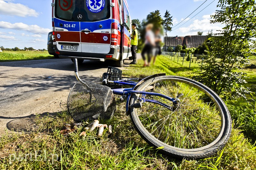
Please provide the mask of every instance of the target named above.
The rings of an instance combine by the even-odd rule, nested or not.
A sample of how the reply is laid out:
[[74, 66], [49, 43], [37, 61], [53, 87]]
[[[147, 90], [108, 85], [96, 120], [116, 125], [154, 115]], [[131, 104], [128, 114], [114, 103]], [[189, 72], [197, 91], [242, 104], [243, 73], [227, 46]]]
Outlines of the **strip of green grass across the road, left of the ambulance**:
[[24, 60], [43, 60], [53, 59], [47, 51], [4, 51], [0, 53], [0, 62], [24, 61]]

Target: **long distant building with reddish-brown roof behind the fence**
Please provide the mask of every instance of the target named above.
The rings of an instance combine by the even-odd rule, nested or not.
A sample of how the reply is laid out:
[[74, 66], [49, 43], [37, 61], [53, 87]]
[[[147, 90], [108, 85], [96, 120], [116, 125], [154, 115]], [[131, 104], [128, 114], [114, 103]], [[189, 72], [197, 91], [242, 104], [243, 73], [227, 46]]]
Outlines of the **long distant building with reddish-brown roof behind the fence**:
[[[176, 46], [181, 45], [184, 46], [186, 45], [188, 48], [195, 47], [197, 48], [198, 46], [201, 46], [205, 39], [207, 39], [206, 35], [188, 35], [186, 37], [166, 37], [164, 38], [164, 44], [166, 40], [166, 49], [168, 49], [169, 46], [171, 46], [174, 50]], [[165, 50], [165, 45], [164, 45], [164, 50]]]

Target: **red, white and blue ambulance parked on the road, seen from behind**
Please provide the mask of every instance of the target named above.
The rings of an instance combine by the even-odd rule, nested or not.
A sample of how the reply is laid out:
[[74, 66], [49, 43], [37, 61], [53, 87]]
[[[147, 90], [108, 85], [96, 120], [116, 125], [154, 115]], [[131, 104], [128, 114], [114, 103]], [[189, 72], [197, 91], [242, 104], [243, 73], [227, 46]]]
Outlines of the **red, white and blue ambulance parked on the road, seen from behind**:
[[53, 0], [55, 53], [123, 67], [131, 57], [132, 23], [126, 0]]

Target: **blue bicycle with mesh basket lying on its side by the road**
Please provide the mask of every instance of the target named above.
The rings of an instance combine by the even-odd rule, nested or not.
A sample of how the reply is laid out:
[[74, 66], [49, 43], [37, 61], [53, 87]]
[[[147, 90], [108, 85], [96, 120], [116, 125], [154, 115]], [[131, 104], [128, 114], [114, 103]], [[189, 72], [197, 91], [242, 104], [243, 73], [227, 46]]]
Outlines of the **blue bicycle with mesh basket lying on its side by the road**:
[[222, 149], [230, 137], [231, 117], [226, 105], [200, 82], [165, 74], [122, 78], [121, 70], [108, 67], [103, 85], [99, 85], [79, 78], [76, 59], [74, 67], [78, 82], [68, 96], [68, 111], [76, 121], [111, 118], [115, 112], [113, 96], [121, 95], [136, 131], [166, 155], [206, 158]]

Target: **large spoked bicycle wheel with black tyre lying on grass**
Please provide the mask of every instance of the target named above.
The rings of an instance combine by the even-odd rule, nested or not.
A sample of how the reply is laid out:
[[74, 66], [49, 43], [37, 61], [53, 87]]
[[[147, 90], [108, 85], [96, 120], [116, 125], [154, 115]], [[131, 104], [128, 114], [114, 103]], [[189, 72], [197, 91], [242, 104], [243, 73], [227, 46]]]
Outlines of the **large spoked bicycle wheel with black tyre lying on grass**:
[[179, 97], [179, 105], [159, 96], [133, 94], [130, 106], [141, 100], [141, 108], [131, 108], [131, 119], [140, 136], [151, 146], [161, 147], [164, 154], [199, 159], [218, 152], [228, 141], [231, 118], [220, 97], [197, 81], [178, 77], [160, 76], [143, 82], [135, 90], [149, 91], [172, 98]]

